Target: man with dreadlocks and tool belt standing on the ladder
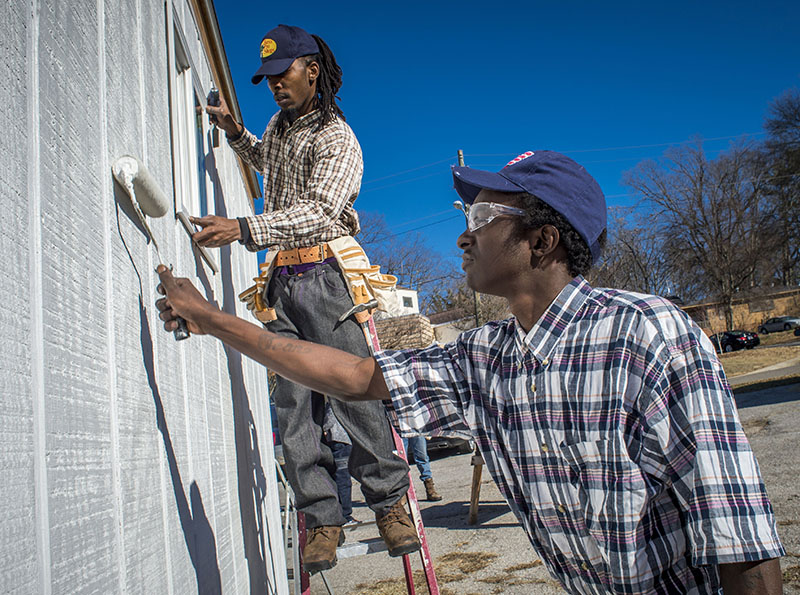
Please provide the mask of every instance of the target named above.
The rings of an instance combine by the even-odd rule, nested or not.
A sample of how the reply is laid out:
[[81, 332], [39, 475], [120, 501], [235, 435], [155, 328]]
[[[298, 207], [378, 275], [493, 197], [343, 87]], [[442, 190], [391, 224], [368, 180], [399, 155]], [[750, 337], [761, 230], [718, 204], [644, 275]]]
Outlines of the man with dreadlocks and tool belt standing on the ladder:
[[[224, 99], [207, 110], [231, 147], [264, 174], [264, 213], [194, 219], [203, 228], [194, 239], [201, 246], [239, 241], [252, 251], [267, 248], [263, 285], [252, 292], [267, 306], [256, 313], [259, 320], [280, 335], [367, 356], [359, 324], [352, 318], [340, 321], [352, 310], [353, 299], [329, 244], [359, 232], [353, 202], [363, 162], [358, 140], [336, 103], [341, 68], [320, 37], [287, 25], [264, 36], [259, 55], [252, 82], [266, 78], [280, 108], [262, 138], [233, 119]], [[346, 519], [332, 479], [336, 462], [322, 440], [324, 397], [278, 376], [273, 399], [286, 475], [309, 528], [303, 566], [308, 572], [325, 570], [336, 564]], [[352, 442], [349, 470], [375, 512], [389, 554], [418, 550], [416, 529], [402, 504], [408, 465], [394, 452], [383, 407], [339, 400], [331, 407]]]

